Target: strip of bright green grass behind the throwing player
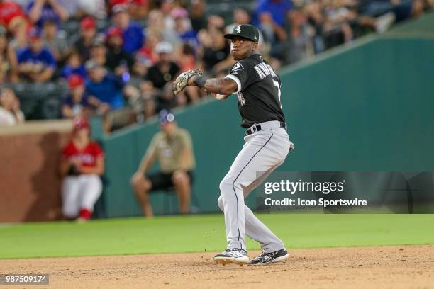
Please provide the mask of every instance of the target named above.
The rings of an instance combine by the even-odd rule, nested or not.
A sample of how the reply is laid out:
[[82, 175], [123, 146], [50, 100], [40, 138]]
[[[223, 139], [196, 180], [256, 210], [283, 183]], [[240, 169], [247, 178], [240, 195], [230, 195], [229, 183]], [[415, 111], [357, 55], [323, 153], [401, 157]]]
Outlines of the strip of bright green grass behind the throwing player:
[[[260, 219], [289, 249], [434, 244], [434, 215], [272, 214]], [[250, 239], [247, 247], [260, 249]], [[0, 225], [0, 259], [223, 249], [223, 215]]]

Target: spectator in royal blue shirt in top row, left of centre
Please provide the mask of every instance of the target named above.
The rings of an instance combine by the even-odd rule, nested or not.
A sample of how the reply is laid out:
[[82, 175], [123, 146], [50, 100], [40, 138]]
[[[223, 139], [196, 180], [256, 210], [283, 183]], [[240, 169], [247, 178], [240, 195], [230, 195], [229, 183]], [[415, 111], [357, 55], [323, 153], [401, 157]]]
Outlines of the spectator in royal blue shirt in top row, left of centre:
[[124, 4], [113, 6], [113, 23], [122, 30], [123, 51], [133, 55], [142, 47], [144, 35], [143, 28], [138, 23], [130, 21], [127, 8]]

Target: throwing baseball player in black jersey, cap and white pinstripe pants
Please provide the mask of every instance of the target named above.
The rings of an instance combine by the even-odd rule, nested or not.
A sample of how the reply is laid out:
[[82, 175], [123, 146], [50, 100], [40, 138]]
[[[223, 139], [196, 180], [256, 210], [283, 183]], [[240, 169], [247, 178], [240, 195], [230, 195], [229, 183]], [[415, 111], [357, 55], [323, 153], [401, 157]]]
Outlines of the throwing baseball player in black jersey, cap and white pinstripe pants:
[[[281, 97], [281, 81], [272, 67], [255, 53], [259, 31], [243, 24], [226, 34], [231, 40], [230, 54], [237, 63], [223, 78], [201, 76], [199, 71], [184, 72], [177, 81], [199, 86], [217, 99], [238, 96], [241, 126], [246, 128], [245, 145], [220, 183], [218, 207], [225, 215], [228, 249], [214, 257], [217, 263], [266, 265], [288, 258], [283, 242], [244, 204], [244, 198], [280, 166], [294, 145], [286, 133]], [[174, 91], [182, 88], [175, 81]], [[262, 253], [249, 261], [245, 235], [260, 242]]]

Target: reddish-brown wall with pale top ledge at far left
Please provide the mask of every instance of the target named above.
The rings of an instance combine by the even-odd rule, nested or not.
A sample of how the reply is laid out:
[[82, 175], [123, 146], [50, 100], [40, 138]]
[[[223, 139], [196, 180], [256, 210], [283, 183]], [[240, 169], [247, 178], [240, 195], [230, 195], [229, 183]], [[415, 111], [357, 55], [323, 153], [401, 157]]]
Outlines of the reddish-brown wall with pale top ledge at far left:
[[30, 122], [0, 130], [0, 222], [57, 220], [62, 147], [71, 122]]

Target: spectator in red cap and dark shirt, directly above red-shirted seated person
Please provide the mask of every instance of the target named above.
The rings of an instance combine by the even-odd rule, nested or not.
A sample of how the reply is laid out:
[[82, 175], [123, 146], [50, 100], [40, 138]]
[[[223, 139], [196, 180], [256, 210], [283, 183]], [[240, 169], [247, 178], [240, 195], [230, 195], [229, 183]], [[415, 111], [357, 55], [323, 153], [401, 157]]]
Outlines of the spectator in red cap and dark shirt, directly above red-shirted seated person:
[[68, 78], [69, 94], [62, 104], [63, 118], [84, 116], [88, 118], [93, 113], [89, 103], [89, 96], [84, 89], [84, 79], [79, 74], [72, 74]]

